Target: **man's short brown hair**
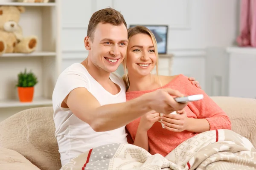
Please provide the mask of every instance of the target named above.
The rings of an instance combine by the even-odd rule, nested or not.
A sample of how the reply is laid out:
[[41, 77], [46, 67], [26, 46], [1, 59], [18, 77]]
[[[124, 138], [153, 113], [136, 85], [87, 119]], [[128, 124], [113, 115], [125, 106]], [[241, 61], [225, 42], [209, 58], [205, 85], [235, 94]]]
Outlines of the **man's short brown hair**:
[[93, 40], [93, 33], [99, 23], [110, 23], [114, 26], [120, 26], [124, 24], [127, 28], [125, 19], [119, 11], [116, 11], [113, 8], [100, 9], [99, 11], [93, 13], [89, 21], [87, 36], [90, 37], [91, 40]]

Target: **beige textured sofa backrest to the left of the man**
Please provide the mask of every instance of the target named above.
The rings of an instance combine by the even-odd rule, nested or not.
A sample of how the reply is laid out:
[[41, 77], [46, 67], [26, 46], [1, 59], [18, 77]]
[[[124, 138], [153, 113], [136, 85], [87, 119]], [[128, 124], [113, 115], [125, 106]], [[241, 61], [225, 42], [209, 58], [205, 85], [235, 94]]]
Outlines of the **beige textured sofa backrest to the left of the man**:
[[52, 107], [21, 111], [0, 122], [0, 147], [15, 150], [41, 170], [61, 168]]

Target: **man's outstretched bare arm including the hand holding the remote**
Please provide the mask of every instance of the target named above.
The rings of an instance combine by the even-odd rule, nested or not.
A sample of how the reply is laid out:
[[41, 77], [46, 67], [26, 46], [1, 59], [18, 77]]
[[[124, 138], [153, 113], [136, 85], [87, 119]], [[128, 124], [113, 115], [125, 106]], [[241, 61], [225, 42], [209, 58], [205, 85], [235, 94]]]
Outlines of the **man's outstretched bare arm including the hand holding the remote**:
[[75, 88], [67, 95], [64, 102], [73, 114], [87, 122], [93, 130], [108, 131], [125, 126], [151, 110], [171, 113], [186, 106], [175, 102], [171, 95], [182, 96], [172, 89], [160, 89], [128, 102], [101, 106], [86, 88]]

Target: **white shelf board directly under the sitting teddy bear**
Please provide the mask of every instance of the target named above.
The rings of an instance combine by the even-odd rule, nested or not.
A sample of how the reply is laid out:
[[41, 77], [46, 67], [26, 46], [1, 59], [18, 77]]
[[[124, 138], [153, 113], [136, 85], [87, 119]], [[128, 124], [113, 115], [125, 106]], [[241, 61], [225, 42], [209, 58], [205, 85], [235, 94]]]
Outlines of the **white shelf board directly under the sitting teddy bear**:
[[55, 52], [44, 52], [44, 51], [35, 51], [32, 53], [6, 53], [0, 55], [1, 57], [42, 57], [42, 56], [55, 56]]

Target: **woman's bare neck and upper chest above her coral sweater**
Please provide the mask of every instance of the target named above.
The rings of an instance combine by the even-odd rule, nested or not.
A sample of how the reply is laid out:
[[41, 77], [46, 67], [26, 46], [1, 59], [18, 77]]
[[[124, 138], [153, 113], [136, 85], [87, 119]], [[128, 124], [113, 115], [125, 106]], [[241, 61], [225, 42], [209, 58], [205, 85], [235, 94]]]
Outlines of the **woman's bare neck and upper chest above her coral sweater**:
[[129, 82], [128, 91], [146, 91], [161, 87], [159, 79], [154, 74], [140, 77], [129, 75]]

